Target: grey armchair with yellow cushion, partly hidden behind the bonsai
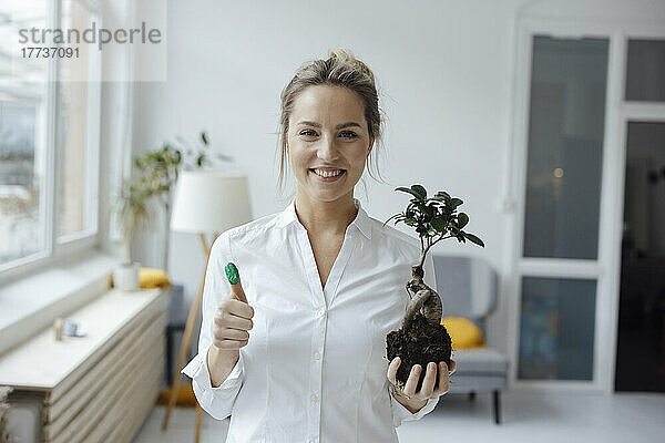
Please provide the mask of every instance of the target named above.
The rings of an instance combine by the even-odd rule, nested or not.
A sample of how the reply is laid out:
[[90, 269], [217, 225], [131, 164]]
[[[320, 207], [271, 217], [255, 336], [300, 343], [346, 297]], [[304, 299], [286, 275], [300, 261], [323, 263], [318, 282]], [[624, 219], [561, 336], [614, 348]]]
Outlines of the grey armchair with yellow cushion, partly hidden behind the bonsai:
[[[472, 257], [432, 255], [437, 276], [437, 292], [443, 302], [443, 316], [466, 317], [483, 332], [487, 341], [487, 318], [497, 308], [499, 278], [484, 260]], [[493, 415], [501, 423], [501, 391], [508, 379], [505, 356], [492, 348], [454, 350], [457, 370], [450, 393], [467, 393], [473, 401], [477, 392], [491, 392]]]

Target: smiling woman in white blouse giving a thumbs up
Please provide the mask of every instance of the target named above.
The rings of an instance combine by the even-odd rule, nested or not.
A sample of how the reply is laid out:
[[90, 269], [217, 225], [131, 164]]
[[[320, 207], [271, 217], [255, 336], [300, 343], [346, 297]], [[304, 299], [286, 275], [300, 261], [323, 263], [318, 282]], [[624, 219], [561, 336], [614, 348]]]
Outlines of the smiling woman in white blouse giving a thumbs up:
[[215, 240], [198, 354], [183, 369], [205, 411], [232, 415], [227, 442], [397, 442], [395, 427], [448, 391], [444, 362], [415, 392], [420, 365], [397, 387], [399, 358], [386, 359], [420, 247], [354, 198], [380, 122], [374, 75], [347, 50], [305, 63], [282, 93], [279, 184], [288, 158], [295, 199]]

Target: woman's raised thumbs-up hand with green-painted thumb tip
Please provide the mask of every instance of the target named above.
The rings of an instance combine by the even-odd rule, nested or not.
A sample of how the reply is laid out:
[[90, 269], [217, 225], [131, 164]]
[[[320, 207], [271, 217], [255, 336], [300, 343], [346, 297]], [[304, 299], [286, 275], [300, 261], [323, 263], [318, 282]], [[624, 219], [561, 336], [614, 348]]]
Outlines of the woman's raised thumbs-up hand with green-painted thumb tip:
[[217, 307], [213, 324], [213, 344], [219, 350], [239, 350], [249, 340], [248, 331], [254, 326], [254, 308], [247, 303], [235, 265], [229, 262], [225, 270], [231, 284], [231, 295]]

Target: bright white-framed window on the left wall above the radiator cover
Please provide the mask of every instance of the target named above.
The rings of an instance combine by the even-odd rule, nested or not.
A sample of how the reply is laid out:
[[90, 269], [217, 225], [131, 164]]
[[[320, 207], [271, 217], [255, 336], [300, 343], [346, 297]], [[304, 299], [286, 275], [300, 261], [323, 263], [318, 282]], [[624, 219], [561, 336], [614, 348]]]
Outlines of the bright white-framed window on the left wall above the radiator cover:
[[[0, 0], [0, 274], [96, 240], [101, 54], [25, 58], [20, 30], [79, 29], [94, 2]], [[39, 39], [39, 34], [38, 34]], [[41, 44], [40, 44], [41, 42]]]

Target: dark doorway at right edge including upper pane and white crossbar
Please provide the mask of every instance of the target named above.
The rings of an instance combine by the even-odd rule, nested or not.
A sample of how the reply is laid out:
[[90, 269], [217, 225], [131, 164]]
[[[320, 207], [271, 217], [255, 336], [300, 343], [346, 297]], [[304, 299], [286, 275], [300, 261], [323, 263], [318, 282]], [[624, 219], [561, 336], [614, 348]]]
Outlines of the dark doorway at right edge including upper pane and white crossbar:
[[665, 392], [665, 35], [627, 42], [616, 391]]

